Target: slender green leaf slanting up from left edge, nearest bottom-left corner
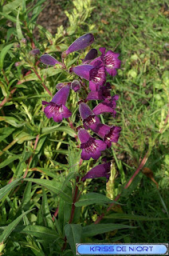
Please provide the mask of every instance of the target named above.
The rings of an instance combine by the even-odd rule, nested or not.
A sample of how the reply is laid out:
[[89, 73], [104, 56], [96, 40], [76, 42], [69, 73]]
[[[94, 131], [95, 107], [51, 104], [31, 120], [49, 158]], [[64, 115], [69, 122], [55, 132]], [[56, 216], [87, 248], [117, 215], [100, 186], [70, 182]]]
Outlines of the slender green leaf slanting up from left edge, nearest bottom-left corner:
[[[33, 209], [31, 209], [33, 210]], [[13, 222], [11, 222], [6, 229], [2, 232], [2, 235], [0, 236], [0, 244], [2, 242], [6, 241], [6, 238], [9, 237], [10, 233], [14, 230], [14, 228], [18, 225], [18, 223], [22, 220], [26, 214], [29, 214], [31, 210], [27, 210], [25, 213], [21, 214], [18, 218], [16, 218]]]

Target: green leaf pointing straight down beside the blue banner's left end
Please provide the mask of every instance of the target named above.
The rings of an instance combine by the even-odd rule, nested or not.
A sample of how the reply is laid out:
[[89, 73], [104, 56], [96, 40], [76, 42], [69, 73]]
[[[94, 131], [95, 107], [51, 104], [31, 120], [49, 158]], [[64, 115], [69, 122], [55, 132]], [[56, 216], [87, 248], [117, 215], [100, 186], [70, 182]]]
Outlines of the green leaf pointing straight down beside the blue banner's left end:
[[76, 243], [81, 242], [81, 225], [67, 224], [64, 227], [65, 236], [68, 239], [69, 245], [73, 250], [73, 254], [76, 255]]

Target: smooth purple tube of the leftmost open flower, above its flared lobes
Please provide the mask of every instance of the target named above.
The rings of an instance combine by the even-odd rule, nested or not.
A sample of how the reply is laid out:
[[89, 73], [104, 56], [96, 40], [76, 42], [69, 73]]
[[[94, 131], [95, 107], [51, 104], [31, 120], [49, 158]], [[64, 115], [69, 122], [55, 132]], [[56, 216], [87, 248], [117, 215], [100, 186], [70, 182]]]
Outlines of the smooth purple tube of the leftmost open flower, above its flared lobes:
[[51, 102], [56, 103], [57, 105], [65, 105], [69, 96], [70, 86], [64, 86], [61, 90], [58, 90], [57, 93], [54, 95]]

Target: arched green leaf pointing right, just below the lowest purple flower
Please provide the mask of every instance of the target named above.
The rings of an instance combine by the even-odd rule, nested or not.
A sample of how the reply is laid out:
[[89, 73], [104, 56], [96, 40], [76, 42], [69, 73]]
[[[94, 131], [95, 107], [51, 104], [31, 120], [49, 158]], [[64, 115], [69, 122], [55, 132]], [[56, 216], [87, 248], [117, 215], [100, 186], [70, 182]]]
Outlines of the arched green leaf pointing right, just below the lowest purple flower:
[[81, 206], [90, 206], [93, 204], [102, 204], [102, 203], [116, 203], [120, 204], [116, 201], [108, 199], [104, 194], [98, 194], [98, 193], [88, 193], [83, 194], [78, 202], [75, 203], [75, 206], [81, 207]]

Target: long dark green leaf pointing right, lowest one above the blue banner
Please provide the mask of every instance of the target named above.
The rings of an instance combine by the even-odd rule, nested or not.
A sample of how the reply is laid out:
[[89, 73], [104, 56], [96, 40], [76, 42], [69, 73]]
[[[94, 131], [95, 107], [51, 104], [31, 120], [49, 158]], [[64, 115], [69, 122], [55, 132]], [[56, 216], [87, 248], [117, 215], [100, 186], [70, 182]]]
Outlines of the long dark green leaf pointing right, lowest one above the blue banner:
[[91, 224], [89, 226], [84, 226], [82, 228], [82, 236], [84, 237], [92, 237], [96, 234], [103, 234], [106, 232], [121, 230], [121, 229], [132, 229], [136, 228], [134, 226], [128, 226], [123, 224]]

